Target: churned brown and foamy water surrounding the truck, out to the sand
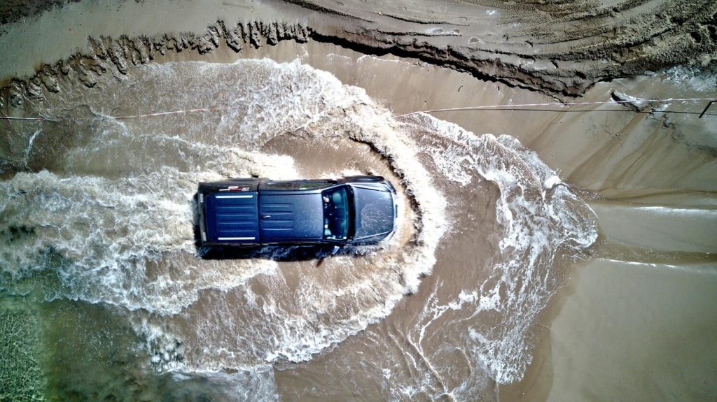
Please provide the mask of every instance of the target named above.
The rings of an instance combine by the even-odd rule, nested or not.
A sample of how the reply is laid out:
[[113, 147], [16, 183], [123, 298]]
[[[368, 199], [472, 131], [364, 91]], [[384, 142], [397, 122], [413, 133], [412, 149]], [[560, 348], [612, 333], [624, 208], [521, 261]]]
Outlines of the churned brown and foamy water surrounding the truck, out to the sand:
[[[49, 399], [490, 400], [522, 378], [538, 315], [597, 238], [515, 138], [394, 119], [298, 62], [107, 75], [34, 105], [55, 122], [5, 128], [0, 288], [24, 313], [0, 305], [2, 330], [37, 328], [22, 353]], [[196, 107], [212, 112], [110, 117]], [[194, 245], [199, 181], [359, 172], [399, 187], [386, 244], [243, 259]]]

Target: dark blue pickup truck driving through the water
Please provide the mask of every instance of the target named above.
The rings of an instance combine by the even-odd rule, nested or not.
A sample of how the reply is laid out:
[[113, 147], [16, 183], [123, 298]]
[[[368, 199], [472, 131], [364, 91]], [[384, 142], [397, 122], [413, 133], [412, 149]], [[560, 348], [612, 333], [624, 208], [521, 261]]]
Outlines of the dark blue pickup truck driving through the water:
[[393, 235], [396, 190], [380, 176], [199, 183], [201, 247], [366, 245]]

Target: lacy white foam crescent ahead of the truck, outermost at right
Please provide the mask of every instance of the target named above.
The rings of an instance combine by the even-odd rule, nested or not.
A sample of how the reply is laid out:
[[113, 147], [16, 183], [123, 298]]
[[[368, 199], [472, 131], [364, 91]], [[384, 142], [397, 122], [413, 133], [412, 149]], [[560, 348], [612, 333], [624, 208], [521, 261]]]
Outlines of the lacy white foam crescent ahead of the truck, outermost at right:
[[498, 325], [478, 325], [470, 330], [470, 337], [495, 381], [518, 381], [531, 361], [531, 325], [559, 283], [551, 276], [554, 256], [560, 247], [581, 249], [591, 245], [597, 239], [596, 217], [535, 152], [517, 139], [491, 134], [478, 137], [428, 115], [415, 119], [453, 143], [447, 147], [450, 157], [444, 157], [445, 147], [427, 149], [445, 177], [466, 186], [479, 175], [500, 190], [496, 219], [503, 236], [490, 278], [475, 284], [473, 290], [462, 290], [445, 305], [433, 306], [432, 314], [440, 316], [449, 309], [469, 306], [473, 315], [498, 313]]

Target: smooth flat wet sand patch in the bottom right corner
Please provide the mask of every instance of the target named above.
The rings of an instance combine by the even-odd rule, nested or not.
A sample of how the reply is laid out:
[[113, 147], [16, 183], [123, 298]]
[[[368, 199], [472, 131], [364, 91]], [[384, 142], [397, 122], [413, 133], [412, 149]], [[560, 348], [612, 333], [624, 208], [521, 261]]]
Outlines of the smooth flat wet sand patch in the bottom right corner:
[[551, 325], [549, 401], [717, 396], [715, 263], [596, 260]]

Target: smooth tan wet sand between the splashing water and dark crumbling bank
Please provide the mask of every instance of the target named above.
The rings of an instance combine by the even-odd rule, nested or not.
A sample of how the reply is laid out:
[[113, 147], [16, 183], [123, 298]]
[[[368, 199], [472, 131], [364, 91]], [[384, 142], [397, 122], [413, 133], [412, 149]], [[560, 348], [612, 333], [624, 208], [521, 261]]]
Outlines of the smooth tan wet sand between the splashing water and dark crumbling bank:
[[[193, 21], [201, 28], [203, 19]], [[57, 57], [65, 56], [65, 50], [58, 52]], [[545, 94], [416, 59], [366, 56], [315, 41], [247, 46], [238, 55], [219, 46], [208, 55], [184, 52], [157, 60], [232, 62], [237, 57], [277, 62], [298, 57], [344, 84], [366, 89], [395, 114], [554, 102]], [[28, 67], [8, 68], [25, 74]], [[713, 75], [691, 77], [678, 70], [601, 82], [579, 100], [607, 100], [613, 91], [644, 98], [713, 96]], [[708, 86], [701, 87], [699, 79]], [[669, 108], [701, 112], [702, 107], [686, 102]], [[476, 134], [520, 139], [569, 185], [589, 190], [584, 197], [598, 216], [601, 237], [590, 250], [592, 258], [570, 268], [566, 288], [543, 311], [540, 324], [549, 330], [538, 330], [533, 365], [523, 381], [499, 387], [502, 399], [715, 398], [717, 384], [710, 378], [717, 353], [715, 117], [667, 114], [668, 120], [610, 104], [567, 109], [571, 112], [436, 114]], [[583, 109], [621, 111], [579, 112]], [[422, 291], [428, 287], [423, 283]]]

